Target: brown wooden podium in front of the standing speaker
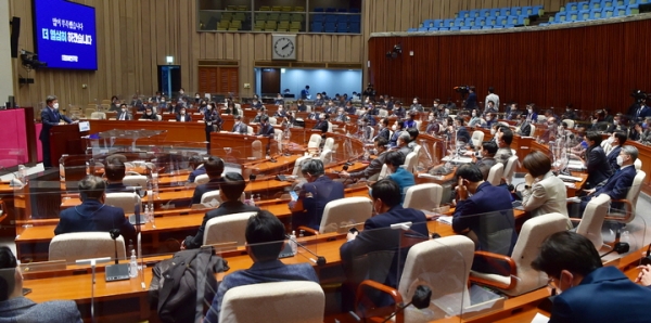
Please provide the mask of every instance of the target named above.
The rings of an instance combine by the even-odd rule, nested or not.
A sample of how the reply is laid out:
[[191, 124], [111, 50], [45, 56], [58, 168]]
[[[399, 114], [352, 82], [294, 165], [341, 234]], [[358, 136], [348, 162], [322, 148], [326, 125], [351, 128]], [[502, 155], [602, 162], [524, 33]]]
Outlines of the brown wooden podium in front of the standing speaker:
[[53, 167], [59, 167], [61, 155], [85, 154], [82, 135], [88, 135], [88, 131], [79, 131], [78, 124], [59, 125], [50, 129], [50, 160]]

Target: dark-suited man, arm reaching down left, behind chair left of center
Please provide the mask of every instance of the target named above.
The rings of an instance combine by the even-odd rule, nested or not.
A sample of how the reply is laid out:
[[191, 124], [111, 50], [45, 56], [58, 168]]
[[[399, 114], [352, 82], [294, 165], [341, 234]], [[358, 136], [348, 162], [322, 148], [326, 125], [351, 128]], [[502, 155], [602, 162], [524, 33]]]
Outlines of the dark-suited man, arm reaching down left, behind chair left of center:
[[224, 181], [219, 184], [219, 197], [224, 202], [218, 208], [206, 212], [196, 235], [186, 237], [181, 243], [181, 250], [195, 249], [203, 245], [204, 232], [208, 220], [227, 215], [259, 211], [259, 208], [246, 205], [240, 201], [244, 188], [246, 188], [246, 182], [241, 175], [237, 172], [227, 172], [224, 176]]

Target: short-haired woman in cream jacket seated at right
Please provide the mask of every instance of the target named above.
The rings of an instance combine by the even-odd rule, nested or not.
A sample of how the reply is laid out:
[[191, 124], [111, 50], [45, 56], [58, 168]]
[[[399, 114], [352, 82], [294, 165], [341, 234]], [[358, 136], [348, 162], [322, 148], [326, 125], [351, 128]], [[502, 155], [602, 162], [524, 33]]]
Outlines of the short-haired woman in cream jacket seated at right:
[[533, 151], [524, 157], [522, 167], [527, 171], [522, 191], [524, 210], [532, 217], [559, 212], [567, 217], [567, 229], [572, 229], [565, 183], [551, 171], [551, 159], [539, 151]]

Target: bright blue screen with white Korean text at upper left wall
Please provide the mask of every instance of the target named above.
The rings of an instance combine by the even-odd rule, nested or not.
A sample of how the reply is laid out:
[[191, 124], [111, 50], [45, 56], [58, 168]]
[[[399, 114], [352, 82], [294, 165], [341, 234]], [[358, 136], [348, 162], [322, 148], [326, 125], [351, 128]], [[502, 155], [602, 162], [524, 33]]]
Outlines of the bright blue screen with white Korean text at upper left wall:
[[64, 0], [33, 0], [38, 60], [49, 68], [98, 69], [95, 10]]

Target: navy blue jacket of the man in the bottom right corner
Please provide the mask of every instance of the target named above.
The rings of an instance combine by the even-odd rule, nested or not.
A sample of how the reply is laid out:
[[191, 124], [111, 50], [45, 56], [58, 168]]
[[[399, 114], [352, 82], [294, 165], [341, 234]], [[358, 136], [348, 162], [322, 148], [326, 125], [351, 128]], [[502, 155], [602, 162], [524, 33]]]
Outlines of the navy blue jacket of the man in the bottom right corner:
[[649, 288], [616, 267], [602, 267], [554, 297], [549, 323], [649, 322]]

